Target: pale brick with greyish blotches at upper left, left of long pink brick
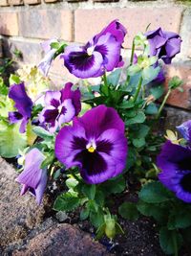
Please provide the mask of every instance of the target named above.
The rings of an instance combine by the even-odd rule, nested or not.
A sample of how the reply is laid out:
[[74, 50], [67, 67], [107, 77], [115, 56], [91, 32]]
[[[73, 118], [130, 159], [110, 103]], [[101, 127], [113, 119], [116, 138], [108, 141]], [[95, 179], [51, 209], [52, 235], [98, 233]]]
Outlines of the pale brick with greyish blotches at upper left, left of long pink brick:
[[19, 34], [25, 37], [59, 37], [72, 40], [70, 10], [30, 10], [19, 12]]

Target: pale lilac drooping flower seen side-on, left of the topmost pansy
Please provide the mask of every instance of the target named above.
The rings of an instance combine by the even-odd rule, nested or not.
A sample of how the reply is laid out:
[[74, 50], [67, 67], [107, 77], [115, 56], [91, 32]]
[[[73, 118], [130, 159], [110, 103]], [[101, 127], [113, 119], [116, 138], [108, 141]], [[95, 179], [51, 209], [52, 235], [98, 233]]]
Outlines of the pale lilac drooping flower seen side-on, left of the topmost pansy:
[[57, 51], [56, 49], [51, 48], [51, 44], [53, 42], [57, 42], [57, 40], [50, 39], [50, 40], [46, 40], [41, 43], [41, 46], [45, 52], [45, 57], [38, 64], [38, 68], [44, 76], [47, 76], [49, 69], [51, 67], [51, 63], [53, 61], [53, 56], [54, 56], [55, 52]]

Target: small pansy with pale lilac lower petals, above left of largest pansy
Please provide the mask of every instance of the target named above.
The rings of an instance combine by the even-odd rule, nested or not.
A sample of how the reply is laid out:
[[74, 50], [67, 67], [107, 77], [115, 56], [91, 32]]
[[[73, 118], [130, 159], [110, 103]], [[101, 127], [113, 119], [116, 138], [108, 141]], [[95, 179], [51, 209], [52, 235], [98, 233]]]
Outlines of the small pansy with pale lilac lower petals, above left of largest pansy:
[[71, 90], [72, 82], [67, 82], [60, 91], [47, 91], [45, 107], [39, 115], [39, 121], [54, 132], [62, 124], [71, 122], [81, 110], [79, 89]]

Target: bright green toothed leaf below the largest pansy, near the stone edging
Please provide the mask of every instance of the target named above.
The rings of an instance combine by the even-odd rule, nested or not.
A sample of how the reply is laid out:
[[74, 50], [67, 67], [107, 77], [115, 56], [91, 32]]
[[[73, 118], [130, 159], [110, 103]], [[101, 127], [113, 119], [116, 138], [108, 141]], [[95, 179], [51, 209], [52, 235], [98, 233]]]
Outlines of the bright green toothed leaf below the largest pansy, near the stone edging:
[[72, 211], [80, 204], [80, 199], [72, 192], [64, 193], [58, 196], [53, 203], [55, 211]]

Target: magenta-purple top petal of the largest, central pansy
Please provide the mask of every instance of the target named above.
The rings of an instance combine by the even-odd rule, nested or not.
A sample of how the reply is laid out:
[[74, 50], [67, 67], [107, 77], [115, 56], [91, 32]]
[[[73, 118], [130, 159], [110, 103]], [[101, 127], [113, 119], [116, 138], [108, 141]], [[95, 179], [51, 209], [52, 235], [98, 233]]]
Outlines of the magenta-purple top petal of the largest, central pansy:
[[88, 110], [82, 117], [75, 118], [74, 123], [86, 130], [88, 137], [98, 137], [103, 131], [109, 128], [117, 128], [124, 133], [124, 123], [113, 107], [98, 105]]

